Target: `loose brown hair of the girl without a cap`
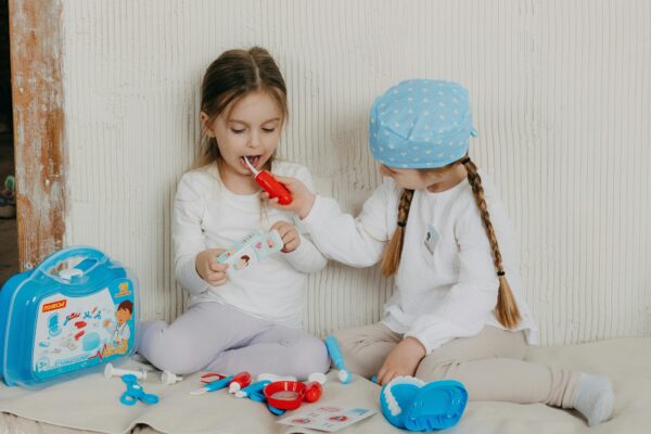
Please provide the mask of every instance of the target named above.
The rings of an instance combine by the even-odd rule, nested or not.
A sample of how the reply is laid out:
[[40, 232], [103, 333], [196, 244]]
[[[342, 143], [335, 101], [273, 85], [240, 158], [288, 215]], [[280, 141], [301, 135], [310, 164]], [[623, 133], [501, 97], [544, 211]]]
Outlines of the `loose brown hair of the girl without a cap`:
[[[276, 100], [284, 122], [289, 114], [288, 90], [271, 54], [260, 47], [225, 51], [204, 74], [201, 84], [201, 111], [208, 116], [208, 123], [213, 123], [229, 104], [257, 91], [267, 92]], [[192, 168], [203, 167], [221, 157], [217, 139], [208, 137], [203, 126], [200, 146]], [[271, 164], [272, 159], [273, 156], [268, 163]]]

